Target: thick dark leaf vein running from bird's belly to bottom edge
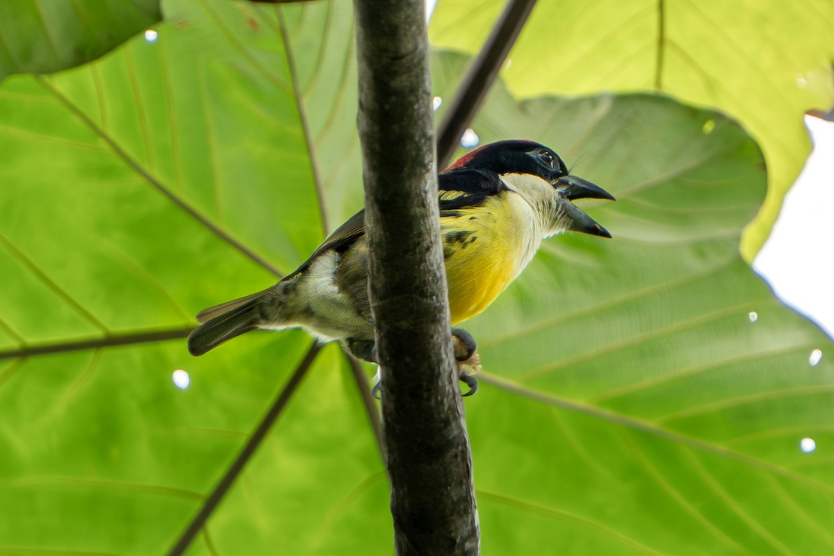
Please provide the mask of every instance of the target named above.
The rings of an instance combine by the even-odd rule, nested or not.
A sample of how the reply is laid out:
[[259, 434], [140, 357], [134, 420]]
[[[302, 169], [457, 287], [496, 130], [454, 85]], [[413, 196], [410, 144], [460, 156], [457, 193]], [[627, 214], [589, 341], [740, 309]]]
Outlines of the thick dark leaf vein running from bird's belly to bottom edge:
[[244, 444], [244, 448], [240, 450], [238, 457], [234, 459], [234, 462], [232, 462], [226, 470], [226, 473], [224, 473], [223, 477], [220, 478], [219, 483], [215, 485], [214, 490], [208, 495], [208, 498], [205, 499], [203, 506], [193, 517], [191, 523], [188, 523], [188, 527], [185, 528], [183, 533], [177, 539], [177, 542], [174, 543], [173, 548], [171, 548], [168, 552], [168, 556], [179, 556], [180, 554], [185, 553], [191, 545], [193, 539], [201, 530], [203, 530], [208, 518], [211, 517], [212, 513], [214, 513], [214, 510], [219, 506], [219, 503], [223, 500], [226, 493], [229, 492], [229, 488], [232, 487], [235, 479], [239, 477], [240, 473], [244, 470], [246, 464], [249, 463], [249, 460], [252, 458], [255, 451], [259, 448], [261, 443], [264, 442], [264, 438], [266, 438], [267, 433], [269, 433], [269, 430], [272, 428], [279, 415], [284, 411], [287, 402], [289, 402], [289, 398], [292, 398], [295, 390], [299, 387], [302, 378], [304, 378], [304, 375], [307, 374], [310, 365], [313, 364], [313, 361], [319, 354], [320, 350], [321, 345], [319, 343], [314, 343], [309, 348], [307, 354], [304, 355], [304, 359], [301, 360], [301, 363], [299, 363], [299, 366], [295, 368], [295, 372], [289, 377], [289, 380], [284, 385], [284, 388], [281, 389], [281, 393], [279, 393], [278, 398], [275, 398], [275, 401], [269, 408], [269, 411], [267, 411], [264, 418], [261, 419], [261, 422], [258, 424], [258, 427], [255, 428], [252, 436], [250, 436], [249, 440]]

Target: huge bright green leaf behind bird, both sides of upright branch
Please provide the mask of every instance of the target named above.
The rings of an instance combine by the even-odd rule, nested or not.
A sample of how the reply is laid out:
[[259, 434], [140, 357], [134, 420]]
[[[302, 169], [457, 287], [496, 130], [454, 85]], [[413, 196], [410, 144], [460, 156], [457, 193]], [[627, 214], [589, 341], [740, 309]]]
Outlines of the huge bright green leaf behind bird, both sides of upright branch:
[[[0, 88], [0, 552], [165, 553], [208, 508], [188, 553], [389, 554], [366, 384], [339, 349], [214, 506], [310, 340], [191, 358], [182, 339], [361, 203], [349, 3], [164, 8], [156, 43]], [[448, 97], [463, 60], [434, 62]], [[467, 325], [485, 553], [834, 549], [831, 342], [737, 253], [765, 190], [751, 138], [666, 98], [501, 88], [473, 125], [618, 198], [584, 205], [614, 240], [548, 240]]]

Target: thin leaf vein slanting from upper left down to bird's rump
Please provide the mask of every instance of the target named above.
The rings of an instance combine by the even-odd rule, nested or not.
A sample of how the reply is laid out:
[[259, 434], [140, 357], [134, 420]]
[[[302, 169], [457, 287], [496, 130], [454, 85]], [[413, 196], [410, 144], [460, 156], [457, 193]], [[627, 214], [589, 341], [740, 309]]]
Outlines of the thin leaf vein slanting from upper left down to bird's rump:
[[126, 153], [123, 148], [118, 146], [118, 143], [113, 141], [108, 133], [105, 133], [102, 128], [99, 128], [98, 125], [93, 122], [92, 119], [88, 117], [86, 113], [78, 108], [72, 101], [70, 101], [66, 96], [63, 95], [58, 89], [54, 88], [46, 79], [36, 75], [34, 76], [35, 79], [38, 80], [43, 88], [47, 89], [49, 93], [52, 93], [55, 98], [68, 108], [68, 110], [75, 114], [75, 116], [80, 119], [84, 125], [88, 128], [93, 130], [98, 137], [102, 138], [104, 143], [107, 143], [110, 148], [113, 149], [113, 153], [116, 153], [118, 158], [121, 158], [124, 163], [126, 163], [130, 168], [133, 168], [133, 171], [138, 173], [142, 178], [148, 182], [150, 185], [153, 186], [159, 193], [162, 193], [165, 197], [167, 197], [173, 204], [175, 204], [178, 208], [180, 208], [184, 213], [188, 214], [194, 220], [197, 220], [198, 223], [202, 224], [203, 227], [207, 228], [209, 232], [214, 233], [218, 238], [222, 239], [225, 243], [229, 243], [233, 248], [237, 249], [240, 253], [244, 253], [247, 257], [252, 259], [255, 263], [258, 263], [260, 266], [269, 270], [269, 272], [273, 273], [275, 276], [283, 276], [279, 268], [275, 267], [274, 264], [269, 263], [268, 260], [261, 257], [258, 253], [255, 253], [252, 249], [246, 247], [243, 243], [240, 243], [237, 239], [233, 238], [229, 233], [227, 233], [224, 229], [219, 228], [214, 223], [210, 222], [208, 218], [205, 218], [202, 214], [198, 213], [198, 211], [193, 208], [191, 205], [185, 202], [182, 198], [179, 198], [178, 195], [173, 193], [170, 189], [166, 188], [162, 183], [159, 182], [157, 178], [154, 178], [145, 168], [143, 168], [137, 161], [133, 160], [133, 158]]

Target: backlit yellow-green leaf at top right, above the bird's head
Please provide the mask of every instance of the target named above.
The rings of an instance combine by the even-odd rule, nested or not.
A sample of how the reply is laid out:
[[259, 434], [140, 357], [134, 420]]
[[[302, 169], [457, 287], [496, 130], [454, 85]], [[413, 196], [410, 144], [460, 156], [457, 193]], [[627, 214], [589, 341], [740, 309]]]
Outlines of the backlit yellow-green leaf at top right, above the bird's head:
[[[443, 0], [430, 37], [476, 52], [504, 0]], [[834, 105], [834, 3], [806, 0], [540, 2], [503, 75], [520, 98], [666, 91], [720, 108], [765, 152], [771, 190], [742, 253], [765, 242], [810, 152], [802, 115]]]

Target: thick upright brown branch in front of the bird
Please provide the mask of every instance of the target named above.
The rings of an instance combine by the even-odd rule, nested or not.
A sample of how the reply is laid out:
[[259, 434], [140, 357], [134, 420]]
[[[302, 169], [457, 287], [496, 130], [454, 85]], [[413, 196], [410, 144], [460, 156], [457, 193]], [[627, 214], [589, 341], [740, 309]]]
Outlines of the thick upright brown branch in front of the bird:
[[423, 0], [354, 0], [369, 294], [399, 556], [477, 554], [452, 353]]

